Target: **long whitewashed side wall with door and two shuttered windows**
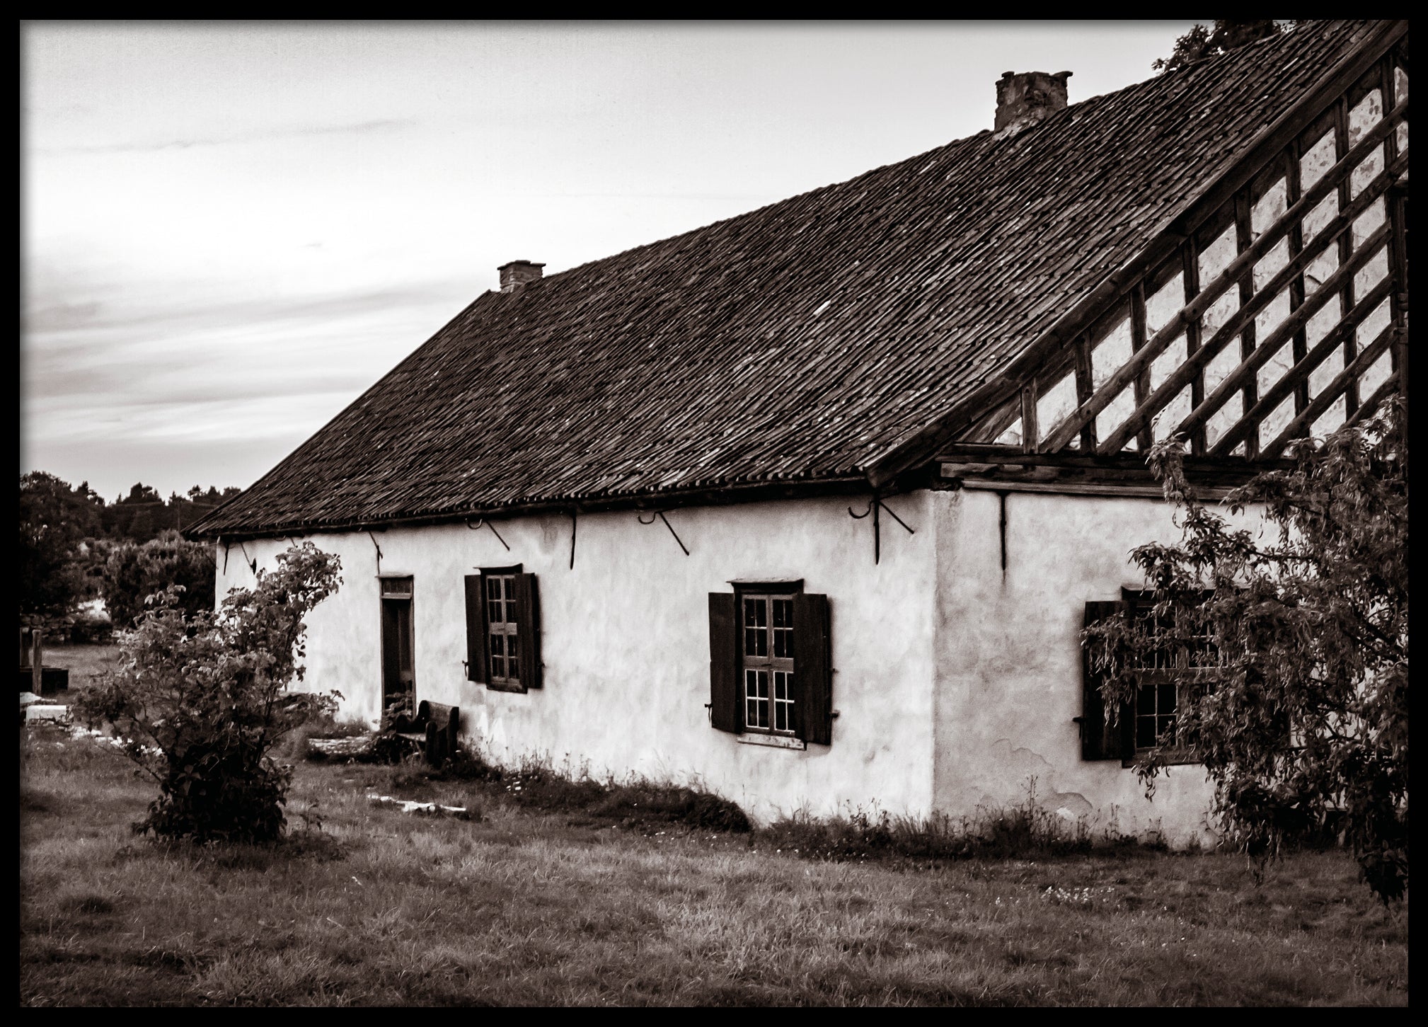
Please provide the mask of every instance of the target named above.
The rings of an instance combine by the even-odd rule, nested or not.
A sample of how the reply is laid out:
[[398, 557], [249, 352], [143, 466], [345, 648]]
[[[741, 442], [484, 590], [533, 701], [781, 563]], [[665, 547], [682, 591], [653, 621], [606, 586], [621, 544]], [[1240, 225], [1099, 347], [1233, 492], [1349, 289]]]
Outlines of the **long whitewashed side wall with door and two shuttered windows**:
[[[854, 499], [861, 513], [867, 497]], [[940, 506], [941, 504], [941, 506]], [[914, 493], [888, 507], [915, 528], [848, 516], [850, 500], [810, 499], [671, 510], [670, 526], [634, 511], [317, 534], [337, 553], [344, 584], [308, 618], [303, 687], [337, 688], [348, 716], [380, 716], [383, 574], [413, 578], [418, 698], [461, 707], [463, 734], [511, 766], [638, 774], [703, 787], [753, 817], [850, 808], [925, 814], [932, 806], [934, 510], [945, 497]], [[942, 514], [945, 516], [945, 513]], [[648, 516], [645, 516], [648, 520]], [[218, 594], [253, 581], [246, 558], [271, 566], [284, 540], [218, 547]], [[543, 687], [524, 694], [466, 678], [464, 576], [520, 564], [538, 580]], [[710, 593], [731, 581], [803, 580], [828, 597], [833, 720], [830, 746], [747, 744], [710, 724]]]

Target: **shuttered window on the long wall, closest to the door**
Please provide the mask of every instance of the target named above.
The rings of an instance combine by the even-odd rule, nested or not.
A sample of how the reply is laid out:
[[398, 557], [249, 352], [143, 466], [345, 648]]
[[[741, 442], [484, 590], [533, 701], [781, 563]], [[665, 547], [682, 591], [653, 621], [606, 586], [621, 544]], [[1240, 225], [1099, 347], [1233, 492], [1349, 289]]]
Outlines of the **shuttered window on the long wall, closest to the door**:
[[541, 687], [540, 591], [534, 574], [483, 567], [466, 576], [467, 680], [496, 691]]

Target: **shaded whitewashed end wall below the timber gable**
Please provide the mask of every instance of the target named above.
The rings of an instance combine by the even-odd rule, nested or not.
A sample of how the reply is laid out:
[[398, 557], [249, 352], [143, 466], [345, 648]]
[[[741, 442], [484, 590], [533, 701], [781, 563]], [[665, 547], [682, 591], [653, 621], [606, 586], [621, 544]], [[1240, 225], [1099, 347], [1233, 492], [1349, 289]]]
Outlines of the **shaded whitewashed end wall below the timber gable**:
[[[1005, 503], [1005, 511], [1002, 510]], [[1144, 580], [1128, 561], [1177, 541], [1170, 507], [1107, 499], [962, 490], [934, 494], [938, 521], [935, 786], [938, 810], [1038, 800], [1068, 820], [1171, 844], [1211, 837], [1211, 787], [1198, 764], [1171, 767], [1148, 801], [1120, 760], [1081, 758], [1084, 607]], [[1005, 513], [1005, 570], [1001, 527]]]

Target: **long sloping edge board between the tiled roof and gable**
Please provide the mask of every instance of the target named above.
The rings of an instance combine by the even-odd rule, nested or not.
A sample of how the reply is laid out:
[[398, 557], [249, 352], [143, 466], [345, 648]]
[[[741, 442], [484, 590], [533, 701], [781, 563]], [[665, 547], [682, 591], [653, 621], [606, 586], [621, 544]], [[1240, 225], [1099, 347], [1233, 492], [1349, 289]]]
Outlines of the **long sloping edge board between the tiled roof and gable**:
[[1255, 141], [1245, 149], [1240, 160], [1225, 169], [1211, 186], [1192, 197], [1180, 214], [1171, 217], [1165, 223], [1165, 227], [1140, 253], [1108, 274], [1101, 284], [1042, 331], [1021, 356], [1011, 360], [1002, 371], [997, 373], [961, 401], [952, 404], [932, 424], [928, 424], [925, 429], [914, 433], [907, 441], [884, 453], [868, 469], [870, 483], [878, 486], [883, 481], [892, 480], [907, 467], [925, 459], [927, 453], [934, 447], [954, 439], [957, 433], [967, 427], [970, 420], [978, 417], [988, 406], [1002, 403], [1008, 397], [1015, 396], [1022, 381], [1037, 371], [1050, 353], [1067, 346], [1085, 330], [1088, 321], [1101, 317], [1107, 306], [1118, 301], [1127, 289], [1144, 276], [1147, 267], [1158, 264], [1168, 254], [1174, 253], [1181, 241], [1192, 231], [1197, 231], [1207, 219], [1214, 217], [1241, 186], [1252, 179], [1265, 163], [1272, 160], [1302, 130], [1307, 121], [1317, 117], [1318, 111], [1355, 81], [1362, 74], [1362, 69], [1372, 67], [1379, 56], [1392, 49], [1407, 34], [1407, 20], [1392, 21], [1371, 30], [1361, 43], [1344, 54], [1339, 63], [1305, 93], [1299, 103], [1294, 104], [1261, 131]]

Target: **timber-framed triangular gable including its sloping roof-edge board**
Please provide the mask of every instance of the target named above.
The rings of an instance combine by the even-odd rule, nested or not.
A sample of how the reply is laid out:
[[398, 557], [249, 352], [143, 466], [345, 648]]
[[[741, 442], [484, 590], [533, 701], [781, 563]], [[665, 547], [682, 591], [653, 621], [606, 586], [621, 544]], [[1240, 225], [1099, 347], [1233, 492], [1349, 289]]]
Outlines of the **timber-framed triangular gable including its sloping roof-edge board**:
[[[1408, 77], [1407, 33], [1407, 21], [1369, 31], [1147, 247], [1000, 374], [884, 454], [870, 480], [891, 480], [957, 441], [998, 439], [1018, 419], [1024, 456], [1112, 456], [1178, 436], [1192, 456], [1258, 461], [1278, 457], [1311, 429], [1362, 420], [1387, 396], [1407, 391], [1408, 97], [1398, 86]], [[1327, 136], [1332, 166], [1305, 187], [1304, 161]], [[1332, 204], [1327, 223], [1325, 204]], [[1225, 233], [1234, 239], [1232, 259], [1207, 267], [1207, 250]], [[1327, 261], [1332, 273], [1308, 280]], [[1177, 277], [1184, 289], [1178, 310], [1147, 326], [1147, 299]], [[1238, 299], [1235, 309], [1208, 324], [1227, 294]], [[1327, 317], [1317, 317], [1324, 310], [1339, 314], [1327, 329]], [[1127, 321], [1130, 359], [1097, 387], [1095, 347]], [[1207, 369], [1221, 370], [1217, 357], [1237, 341], [1237, 364], [1210, 379]], [[1281, 350], [1289, 354], [1282, 373]], [[1387, 377], [1375, 364], [1385, 353]], [[1047, 424], [1038, 400], [1068, 374], [1077, 406]], [[1122, 397], [1130, 397], [1130, 416], [1098, 417]], [[1288, 416], [1272, 420], [1285, 403]], [[1324, 424], [1335, 407], [1342, 416]]]

